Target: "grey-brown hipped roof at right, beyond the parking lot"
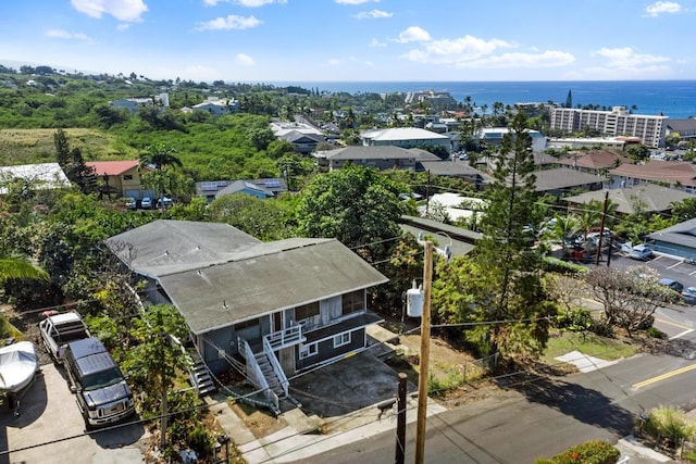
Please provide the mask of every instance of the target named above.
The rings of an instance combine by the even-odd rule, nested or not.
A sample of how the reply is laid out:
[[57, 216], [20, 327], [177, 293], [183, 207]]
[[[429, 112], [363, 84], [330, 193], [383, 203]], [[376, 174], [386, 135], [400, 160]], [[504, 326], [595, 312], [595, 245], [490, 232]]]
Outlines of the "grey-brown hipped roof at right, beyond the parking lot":
[[633, 214], [633, 205], [641, 201], [643, 212], [660, 213], [671, 210], [671, 203], [695, 198], [684, 190], [661, 187], [655, 184], [643, 184], [635, 187], [614, 188], [609, 190], [588, 191], [573, 197], [563, 198], [564, 201], [575, 204], [585, 204], [591, 200], [605, 201], [605, 193], [609, 192], [609, 200], [617, 204], [617, 212]]

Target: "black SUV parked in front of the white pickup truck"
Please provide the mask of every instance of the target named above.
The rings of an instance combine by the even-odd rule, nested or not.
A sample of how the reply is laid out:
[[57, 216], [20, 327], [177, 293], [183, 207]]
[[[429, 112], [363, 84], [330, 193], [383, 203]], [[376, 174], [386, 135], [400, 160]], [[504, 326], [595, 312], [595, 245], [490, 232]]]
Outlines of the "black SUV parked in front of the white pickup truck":
[[130, 388], [98, 338], [69, 343], [64, 364], [87, 426], [111, 424], [135, 412]]

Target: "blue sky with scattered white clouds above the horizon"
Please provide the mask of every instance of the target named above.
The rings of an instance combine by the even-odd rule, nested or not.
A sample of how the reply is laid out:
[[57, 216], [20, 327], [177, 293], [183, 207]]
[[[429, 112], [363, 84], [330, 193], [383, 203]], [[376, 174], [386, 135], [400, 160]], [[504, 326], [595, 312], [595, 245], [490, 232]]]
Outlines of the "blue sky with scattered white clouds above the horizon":
[[695, 79], [696, 0], [5, 0], [0, 63], [196, 81]]

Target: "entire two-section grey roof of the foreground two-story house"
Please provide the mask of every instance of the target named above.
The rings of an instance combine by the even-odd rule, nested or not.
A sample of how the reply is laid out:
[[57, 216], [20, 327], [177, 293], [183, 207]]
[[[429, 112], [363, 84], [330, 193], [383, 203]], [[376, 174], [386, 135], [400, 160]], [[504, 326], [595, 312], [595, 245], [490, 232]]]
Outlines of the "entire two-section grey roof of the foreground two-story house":
[[266, 243], [226, 224], [156, 221], [107, 243], [160, 283], [195, 334], [388, 281], [338, 240]]

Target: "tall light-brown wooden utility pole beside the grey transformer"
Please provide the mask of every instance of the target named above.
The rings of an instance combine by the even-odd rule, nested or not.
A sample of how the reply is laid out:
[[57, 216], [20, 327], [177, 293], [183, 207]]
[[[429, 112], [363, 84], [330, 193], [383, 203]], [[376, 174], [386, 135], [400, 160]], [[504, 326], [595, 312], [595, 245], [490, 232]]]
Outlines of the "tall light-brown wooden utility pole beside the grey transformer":
[[425, 461], [425, 414], [431, 355], [431, 287], [433, 284], [433, 242], [425, 242], [423, 264], [423, 315], [421, 316], [421, 358], [418, 376], [418, 422], [415, 427], [415, 464]]

